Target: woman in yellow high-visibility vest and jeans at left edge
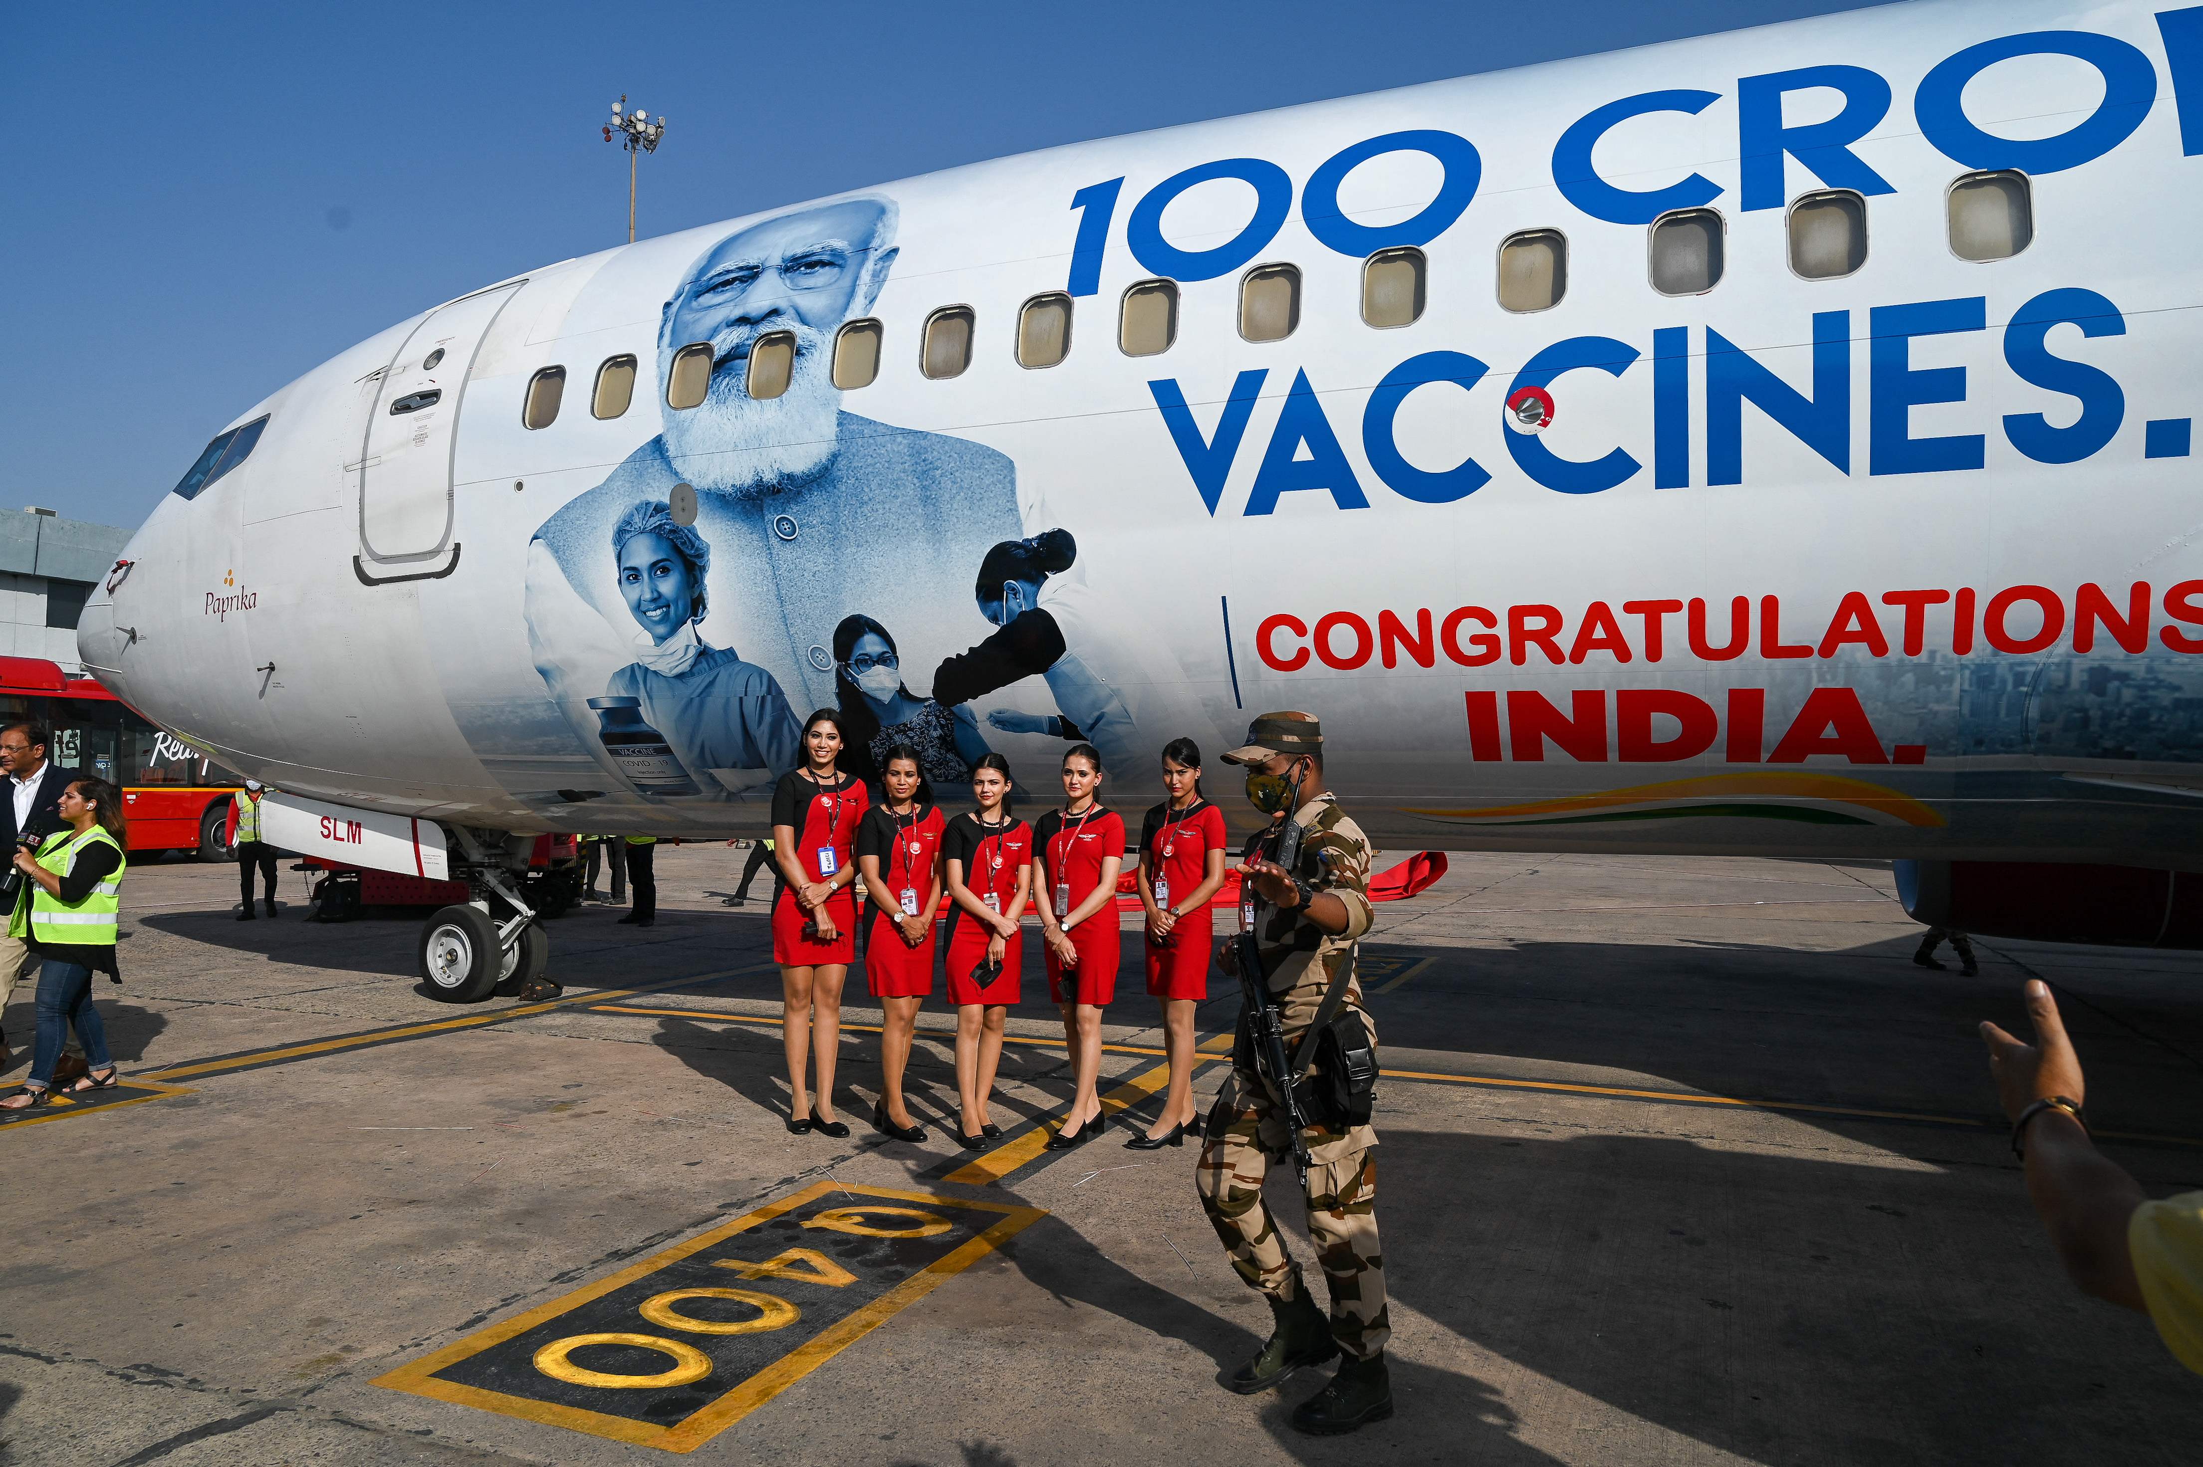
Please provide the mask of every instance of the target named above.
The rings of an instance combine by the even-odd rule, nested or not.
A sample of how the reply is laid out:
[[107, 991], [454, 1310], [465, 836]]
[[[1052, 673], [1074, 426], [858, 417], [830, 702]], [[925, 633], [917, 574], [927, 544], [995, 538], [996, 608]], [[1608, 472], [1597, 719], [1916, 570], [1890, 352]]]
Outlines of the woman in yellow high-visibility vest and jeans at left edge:
[[62, 1057], [62, 1035], [75, 1026], [84, 1040], [88, 1073], [68, 1093], [108, 1090], [117, 1084], [108, 1060], [108, 1035], [93, 1007], [93, 974], [115, 982], [115, 934], [121, 925], [123, 857], [121, 793], [106, 780], [77, 778], [57, 804], [64, 828], [40, 844], [37, 855], [15, 850], [15, 870], [29, 881], [15, 899], [9, 936], [29, 943], [42, 958], [37, 971], [37, 1048], [31, 1077], [0, 1099], [4, 1110], [29, 1110], [53, 1099], [53, 1066]]

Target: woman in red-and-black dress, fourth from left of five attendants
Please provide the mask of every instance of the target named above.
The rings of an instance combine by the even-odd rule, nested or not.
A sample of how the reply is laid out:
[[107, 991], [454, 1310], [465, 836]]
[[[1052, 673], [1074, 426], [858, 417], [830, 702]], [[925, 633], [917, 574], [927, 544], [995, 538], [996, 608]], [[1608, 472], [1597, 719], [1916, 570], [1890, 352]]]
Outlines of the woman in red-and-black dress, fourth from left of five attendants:
[[1102, 756], [1093, 745], [1064, 753], [1064, 808], [1033, 826], [1040, 932], [1049, 943], [1049, 998], [1064, 1011], [1075, 1086], [1049, 1148], [1086, 1145], [1102, 1130], [1102, 1009], [1117, 996], [1117, 870], [1124, 819], [1102, 808]]

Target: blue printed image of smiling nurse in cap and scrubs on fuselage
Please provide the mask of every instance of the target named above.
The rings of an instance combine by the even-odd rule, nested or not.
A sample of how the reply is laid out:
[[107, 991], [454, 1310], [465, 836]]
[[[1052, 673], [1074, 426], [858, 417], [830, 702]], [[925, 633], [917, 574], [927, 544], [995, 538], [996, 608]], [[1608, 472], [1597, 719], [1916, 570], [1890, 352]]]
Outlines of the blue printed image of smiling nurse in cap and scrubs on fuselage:
[[738, 793], [797, 764], [795, 711], [764, 667], [696, 634], [705, 619], [712, 546], [674, 524], [665, 500], [645, 500], [612, 529], [619, 595], [641, 632], [606, 700], [634, 698], [643, 722], [705, 791]]

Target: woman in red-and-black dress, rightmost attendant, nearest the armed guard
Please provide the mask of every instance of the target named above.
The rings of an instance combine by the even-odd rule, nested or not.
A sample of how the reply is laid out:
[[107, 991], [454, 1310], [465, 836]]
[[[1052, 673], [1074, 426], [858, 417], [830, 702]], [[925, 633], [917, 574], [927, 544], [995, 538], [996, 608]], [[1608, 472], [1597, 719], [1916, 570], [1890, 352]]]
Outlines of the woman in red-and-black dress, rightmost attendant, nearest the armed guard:
[[1139, 905], [1148, 910], [1148, 993], [1163, 1000], [1170, 1093], [1163, 1115], [1135, 1152], [1183, 1145], [1201, 1134], [1194, 1115], [1194, 1007], [1209, 996], [1214, 923], [1209, 899], [1225, 883], [1225, 813], [1201, 797], [1201, 749], [1190, 738], [1163, 747], [1163, 804], [1139, 826]]

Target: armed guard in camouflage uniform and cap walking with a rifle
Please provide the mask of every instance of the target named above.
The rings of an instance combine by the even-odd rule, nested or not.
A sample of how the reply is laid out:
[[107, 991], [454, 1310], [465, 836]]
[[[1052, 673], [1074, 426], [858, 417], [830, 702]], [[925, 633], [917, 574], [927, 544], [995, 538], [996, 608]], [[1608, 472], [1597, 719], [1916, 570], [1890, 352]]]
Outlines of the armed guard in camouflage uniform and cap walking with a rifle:
[[[1262, 1205], [1262, 1178], [1287, 1159], [1293, 1139], [1282, 1095], [1256, 1068], [1247, 1015], [1231, 1075], [1209, 1110], [1196, 1187], [1201, 1205], [1223, 1238], [1231, 1267], [1269, 1297], [1276, 1330], [1262, 1350], [1231, 1374], [1231, 1390], [1269, 1390], [1302, 1366], [1344, 1355], [1324, 1390], [1293, 1412], [1302, 1432], [1353, 1432], [1392, 1414], [1392, 1383], [1383, 1346], [1392, 1335], [1383, 1297], [1383, 1253], [1377, 1249], [1377, 1132], [1368, 1123], [1375, 1084], [1377, 1031], [1361, 1007], [1353, 976], [1353, 943], [1370, 930], [1368, 877], [1375, 852], [1361, 828], [1324, 789], [1324, 734], [1311, 714], [1262, 714], [1247, 727], [1247, 745], [1225, 756], [1247, 767], [1247, 800], [1269, 813], [1269, 830], [1247, 846], [1240, 919], [1251, 927], [1262, 958], [1269, 1002], [1280, 1011], [1287, 1053], [1295, 1068], [1300, 1042], [1311, 1051], [1311, 1106], [1302, 1132], [1311, 1152], [1306, 1174], [1309, 1238], [1331, 1284], [1331, 1315], [1315, 1306], [1300, 1264], [1284, 1249]], [[1269, 859], [1284, 822], [1300, 826], [1291, 868]], [[1251, 919], [1251, 921], [1249, 921]], [[1227, 947], [1227, 965], [1236, 965]], [[1331, 1013], [1322, 1013], [1333, 993]], [[1322, 1026], [1317, 1029], [1317, 1020]], [[1333, 1035], [1348, 1035], [1335, 1040]], [[1357, 1064], [1342, 1062], [1355, 1055]], [[1326, 1071], [1331, 1066], [1331, 1073]], [[1361, 1077], [1348, 1093], [1346, 1075]]]

